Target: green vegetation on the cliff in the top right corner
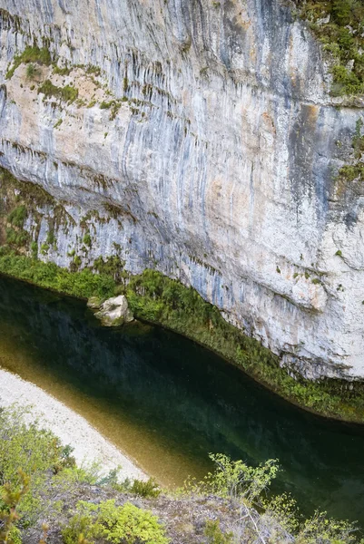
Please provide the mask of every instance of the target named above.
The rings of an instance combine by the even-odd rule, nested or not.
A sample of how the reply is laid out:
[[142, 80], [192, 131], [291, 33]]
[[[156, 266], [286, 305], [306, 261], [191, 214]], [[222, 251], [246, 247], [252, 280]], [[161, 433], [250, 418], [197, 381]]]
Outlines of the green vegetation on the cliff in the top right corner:
[[[364, 92], [364, 5], [361, 0], [295, 0], [324, 50], [331, 54], [332, 93]], [[326, 22], [325, 22], [326, 21]]]

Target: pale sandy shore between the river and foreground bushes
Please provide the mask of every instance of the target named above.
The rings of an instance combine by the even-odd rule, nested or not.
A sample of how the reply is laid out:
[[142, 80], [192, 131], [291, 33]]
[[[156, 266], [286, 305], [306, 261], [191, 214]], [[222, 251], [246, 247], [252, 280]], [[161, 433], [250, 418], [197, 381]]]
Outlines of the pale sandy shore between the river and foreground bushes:
[[0, 406], [5, 408], [13, 403], [30, 405], [29, 422], [38, 419], [40, 426], [54, 432], [64, 445], [70, 444], [78, 465], [100, 461], [104, 473], [121, 466], [120, 479], [145, 480], [143, 471], [93, 429], [84, 417], [36, 385], [0, 368]]

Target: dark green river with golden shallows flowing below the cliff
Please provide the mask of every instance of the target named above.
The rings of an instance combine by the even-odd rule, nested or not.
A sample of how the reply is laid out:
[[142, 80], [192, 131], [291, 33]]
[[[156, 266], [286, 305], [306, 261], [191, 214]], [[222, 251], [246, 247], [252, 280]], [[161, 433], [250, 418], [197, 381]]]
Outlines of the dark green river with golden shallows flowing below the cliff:
[[364, 525], [364, 428], [304, 413], [159, 327], [98, 325], [83, 302], [0, 277], [0, 365], [53, 393], [164, 485], [208, 452], [278, 458], [274, 491]]

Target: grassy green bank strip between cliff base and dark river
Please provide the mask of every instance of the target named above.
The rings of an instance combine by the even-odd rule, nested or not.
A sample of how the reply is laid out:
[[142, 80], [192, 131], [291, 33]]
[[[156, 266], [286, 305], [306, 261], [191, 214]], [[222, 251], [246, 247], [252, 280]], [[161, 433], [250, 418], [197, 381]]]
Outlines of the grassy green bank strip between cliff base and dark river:
[[290, 403], [330, 419], [364, 423], [361, 382], [334, 378], [313, 382], [293, 369], [282, 368], [279, 356], [227, 323], [219, 309], [192, 287], [156, 270], [131, 276], [120, 259], [103, 261], [100, 257], [94, 269], [70, 271], [3, 247], [0, 273], [78, 298], [124, 294], [137, 319], [162, 325], [209, 348]]

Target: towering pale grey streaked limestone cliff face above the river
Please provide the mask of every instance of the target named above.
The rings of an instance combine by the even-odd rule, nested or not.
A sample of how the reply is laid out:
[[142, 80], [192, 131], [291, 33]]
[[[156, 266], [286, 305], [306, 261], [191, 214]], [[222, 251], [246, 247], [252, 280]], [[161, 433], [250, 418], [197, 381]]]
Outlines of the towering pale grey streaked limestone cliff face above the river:
[[[364, 114], [330, 97], [320, 45], [290, 4], [0, 7], [0, 165], [64, 210], [26, 220], [39, 248], [54, 233], [41, 257], [155, 267], [282, 364], [364, 377], [364, 190], [336, 181]], [[74, 69], [39, 65], [30, 82], [20, 64], [5, 79], [34, 43]], [[46, 79], [79, 100], [38, 93]]]

